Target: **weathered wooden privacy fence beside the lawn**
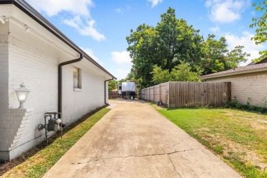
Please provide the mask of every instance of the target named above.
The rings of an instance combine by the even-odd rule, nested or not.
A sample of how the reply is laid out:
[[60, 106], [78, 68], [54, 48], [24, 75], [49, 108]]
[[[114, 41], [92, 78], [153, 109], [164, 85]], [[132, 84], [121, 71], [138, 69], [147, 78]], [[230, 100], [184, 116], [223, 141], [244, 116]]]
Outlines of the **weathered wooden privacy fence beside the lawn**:
[[169, 81], [140, 90], [140, 96], [168, 107], [223, 105], [231, 100], [231, 82]]

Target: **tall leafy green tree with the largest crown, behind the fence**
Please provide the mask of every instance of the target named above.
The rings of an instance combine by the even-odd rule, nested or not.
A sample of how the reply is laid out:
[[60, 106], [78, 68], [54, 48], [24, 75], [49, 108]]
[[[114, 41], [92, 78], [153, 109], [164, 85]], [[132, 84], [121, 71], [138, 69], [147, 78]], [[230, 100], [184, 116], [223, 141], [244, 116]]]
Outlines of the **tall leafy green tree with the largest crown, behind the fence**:
[[153, 84], [151, 72], [154, 65], [167, 69], [170, 73], [180, 60], [185, 60], [194, 67], [201, 58], [202, 36], [185, 20], [177, 19], [172, 8], [161, 15], [161, 21], [156, 27], [142, 24], [136, 31], [131, 29], [126, 40], [133, 71], [136, 71], [134, 78], [141, 87]]

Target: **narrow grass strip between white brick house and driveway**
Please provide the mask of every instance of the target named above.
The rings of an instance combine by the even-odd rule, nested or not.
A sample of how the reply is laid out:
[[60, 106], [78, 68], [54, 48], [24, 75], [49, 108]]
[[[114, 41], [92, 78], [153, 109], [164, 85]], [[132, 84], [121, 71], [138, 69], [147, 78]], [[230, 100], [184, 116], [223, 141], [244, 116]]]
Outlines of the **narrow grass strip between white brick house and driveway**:
[[[72, 125], [64, 129], [64, 136], [60, 138], [60, 133], [55, 133], [49, 138], [49, 145], [42, 142], [34, 149], [27, 151], [23, 155], [1, 165], [1, 170], [8, 170], [2, 173], [3, 177], [42, 177], [47, 171], [60, 160], [60, 157], [71, 149], [79, 138], [99, 121], [110, 109], [102, 108], [88, 114]], [[12, 165], [17, 166], [12, 167]], [[3, 171], [2, 171], [3, 172]], [[1, 172], [0, 172], [1, 176]]]

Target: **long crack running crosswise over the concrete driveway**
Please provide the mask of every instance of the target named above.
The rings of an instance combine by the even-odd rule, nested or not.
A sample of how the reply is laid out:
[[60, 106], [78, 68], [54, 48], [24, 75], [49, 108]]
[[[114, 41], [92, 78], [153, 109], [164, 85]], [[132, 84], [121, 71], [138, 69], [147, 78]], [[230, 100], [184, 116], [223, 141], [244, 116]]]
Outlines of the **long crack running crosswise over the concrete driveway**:
[[85, 163], [90, 163], [90, 162], [99, 162], [101, 160], [111, 160], [111, 159], [116, 159], [116, 158], [125, 159], [127, 157], [147, 157], [147, 156], [155, 156], [155, 155], [171, 155], [174, 153], [180, 153], [180, 152], [184, 152], [184, 151], [194, 151], [194, 150], [199, 150], [199, 149], [188, 149], [188, 150], [182, 150], [182, 151], [173, 151], [170, 153], [157, 153], [157, 154], [147, 154], [147, 155], [127, 155], [127, 156], [104, 157], [104, 158], [101, 158], [98, 160], [90, 160], [87, 162], [77, 162], [77, 163], [71, 163], [71, 164], [85, 164]]

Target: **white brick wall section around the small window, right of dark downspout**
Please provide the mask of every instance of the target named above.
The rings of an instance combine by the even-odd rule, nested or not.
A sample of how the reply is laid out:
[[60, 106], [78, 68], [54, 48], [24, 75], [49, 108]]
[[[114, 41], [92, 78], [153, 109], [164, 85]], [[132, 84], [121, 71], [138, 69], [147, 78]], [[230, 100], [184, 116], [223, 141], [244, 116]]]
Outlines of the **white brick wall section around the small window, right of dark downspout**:
[[[86, 59], [84, 59], [86, 60]], [[73, 66], [81, 68], [81, 91], [73, 91]], [[63, 118], [64, 122], [72, 123], [88, 111], [104, 105], [104, 78], [87, 71], [86, 67], [74, 63], [63, 66]]]

